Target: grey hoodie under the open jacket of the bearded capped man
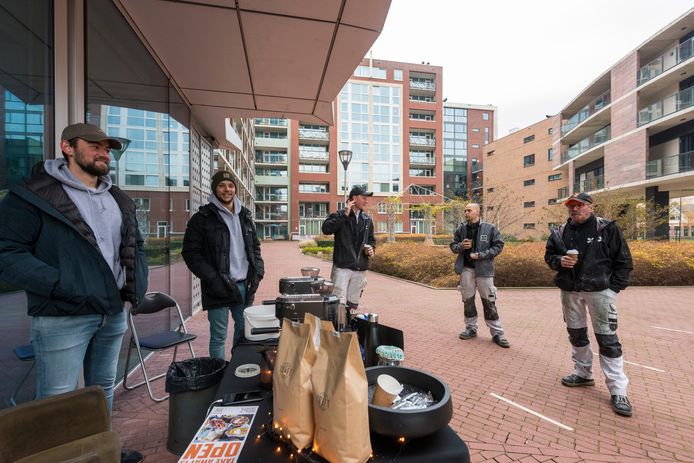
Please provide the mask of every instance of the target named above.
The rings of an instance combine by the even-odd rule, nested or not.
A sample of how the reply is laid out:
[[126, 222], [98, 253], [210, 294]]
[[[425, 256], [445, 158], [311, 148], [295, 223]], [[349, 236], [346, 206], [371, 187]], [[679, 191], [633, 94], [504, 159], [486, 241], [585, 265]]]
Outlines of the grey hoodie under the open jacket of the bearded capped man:
[[125, 284], [125, 272], [120, 264], [121, 217], [118, 203], [109, 193], [111, 177], [102, 175], [96, 188], [82, 183], [67, 167], [64, 159], [49, 159], [43, 164], [51, 177], [62, 183], [80, 215], [94, 233], [99, 250], [111, 268], [118, 288]]

